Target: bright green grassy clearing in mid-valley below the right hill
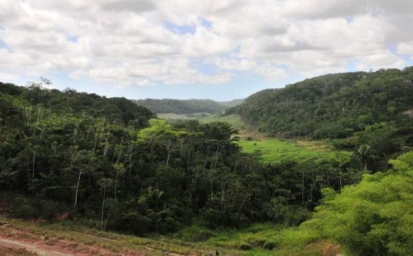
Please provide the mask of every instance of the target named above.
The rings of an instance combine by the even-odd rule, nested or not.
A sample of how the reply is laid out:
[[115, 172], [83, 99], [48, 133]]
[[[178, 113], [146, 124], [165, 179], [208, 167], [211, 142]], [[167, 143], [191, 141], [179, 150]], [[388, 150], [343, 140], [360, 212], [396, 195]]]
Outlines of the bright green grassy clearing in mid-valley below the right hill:
[[263, 154], [266, 162], [277, 162], [283, 159], [293, 159], [297, 161], [309, 159], [338, 159], [340, 157], [349, 158], [351, 152], [332, 150], [331, 147], [322, 141], [281, 141], [277, 139], [265, 140], [245, 140], [241, 139], [239, 145], [246, 153], [257, 150]]

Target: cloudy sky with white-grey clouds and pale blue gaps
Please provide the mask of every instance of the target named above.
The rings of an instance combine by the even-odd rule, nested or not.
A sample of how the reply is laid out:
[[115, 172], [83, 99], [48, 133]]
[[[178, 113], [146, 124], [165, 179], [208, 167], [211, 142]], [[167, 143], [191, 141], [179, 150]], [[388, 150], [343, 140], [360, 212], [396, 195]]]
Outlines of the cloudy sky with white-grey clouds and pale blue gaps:
[[0, 0], [0, 81], [230, 100], [412, 65], [412, 22], [412, 0]]

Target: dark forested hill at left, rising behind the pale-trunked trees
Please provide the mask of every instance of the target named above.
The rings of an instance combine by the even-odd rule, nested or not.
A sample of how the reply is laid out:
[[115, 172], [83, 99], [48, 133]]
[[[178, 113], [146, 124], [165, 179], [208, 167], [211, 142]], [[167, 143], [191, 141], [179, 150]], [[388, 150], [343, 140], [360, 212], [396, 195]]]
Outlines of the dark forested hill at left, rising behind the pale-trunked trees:
[[75, 123], [79, 126], [86, 120], [101, 118], [112, 124], [143, 128], [148, 126], [150, 118], [156, 117], [149, 109], [123, 97], [107, 98], [73, 89], [63, 92], [46, 90], [41, 84], [19, 87], [0, 82], [0, 106], [2, 125], [12, 126], [20, 132], [24, 132], [25, 125], [34, 125], [39, 129], [53, 125], [56, 128], [57, 119], [60, 125], [66, 123], [67, 126]]

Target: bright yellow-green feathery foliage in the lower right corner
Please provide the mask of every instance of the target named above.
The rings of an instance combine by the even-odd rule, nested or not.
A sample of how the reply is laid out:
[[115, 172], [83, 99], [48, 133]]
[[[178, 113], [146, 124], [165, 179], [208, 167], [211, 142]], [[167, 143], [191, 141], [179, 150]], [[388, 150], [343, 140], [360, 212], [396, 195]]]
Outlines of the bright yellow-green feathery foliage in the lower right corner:
[[365, 174], [341, 193], [324, 189], [324, 204], [303, 227], [339, 242], [349, 255], [410, 255], [412, 160], [412, 152], [391, 160], [391, 171]]

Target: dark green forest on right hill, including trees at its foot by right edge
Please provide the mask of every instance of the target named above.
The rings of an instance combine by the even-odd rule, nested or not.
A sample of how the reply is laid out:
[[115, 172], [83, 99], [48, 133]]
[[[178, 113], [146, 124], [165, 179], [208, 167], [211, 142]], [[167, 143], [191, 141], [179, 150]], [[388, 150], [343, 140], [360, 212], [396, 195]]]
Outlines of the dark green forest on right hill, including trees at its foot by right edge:
[[[375, 172], [412, 149], [412, 79], [413, 67], [324, 75], [264, 90], [227, 113], [273, 136], [332, 139], [354, 151], [352, 168]], [[357, 156], [361, 145], [370, 147], [368, 158]]]

